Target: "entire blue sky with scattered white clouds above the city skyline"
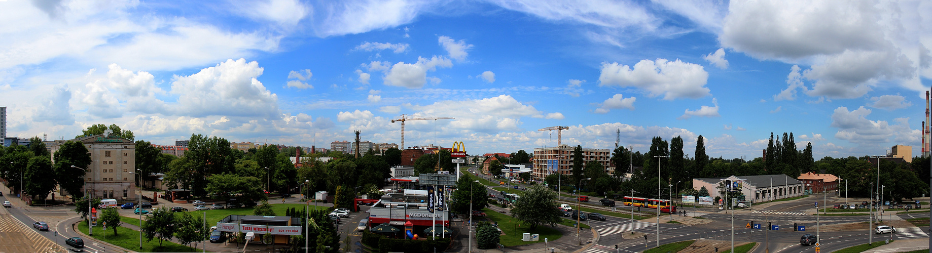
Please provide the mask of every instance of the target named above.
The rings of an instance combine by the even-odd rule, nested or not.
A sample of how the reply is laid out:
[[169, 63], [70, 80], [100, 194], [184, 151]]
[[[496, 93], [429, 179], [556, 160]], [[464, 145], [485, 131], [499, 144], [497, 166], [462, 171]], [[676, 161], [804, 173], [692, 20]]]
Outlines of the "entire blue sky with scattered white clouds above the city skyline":
[[0, 1], [8, 136], [919, 155], [922, 1]]

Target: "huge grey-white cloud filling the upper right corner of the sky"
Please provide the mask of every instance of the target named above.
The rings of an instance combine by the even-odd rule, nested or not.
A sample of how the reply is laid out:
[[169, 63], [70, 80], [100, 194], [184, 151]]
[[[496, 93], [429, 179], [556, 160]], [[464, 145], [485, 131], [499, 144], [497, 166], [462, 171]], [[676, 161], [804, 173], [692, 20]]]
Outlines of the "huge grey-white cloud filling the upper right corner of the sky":
[[927, 68], [928, 49], [917, 24], [927, 22], [927, 4], [920, 2], [731, 2], [719, 40], [760, 60], [810, 66], [801, 73], [811, 88], [798, 79], [774, 100], [792, 100], [797, 88], [829, 99], [859, 98], [875, 86], [922, 90], [917, 67]]

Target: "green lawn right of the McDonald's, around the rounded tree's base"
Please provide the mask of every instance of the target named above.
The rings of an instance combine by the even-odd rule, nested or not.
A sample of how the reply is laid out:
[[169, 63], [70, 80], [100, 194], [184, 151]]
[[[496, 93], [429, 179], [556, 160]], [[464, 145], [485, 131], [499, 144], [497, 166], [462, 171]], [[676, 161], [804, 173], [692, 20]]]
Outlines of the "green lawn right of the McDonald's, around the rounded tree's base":
[[563, 237], [562, 233], [547, 225], [540, 225], [537, 226], [537, 230], [530, 230], [530, 228], [524, 224], [524, 222], [521, 222], [521, 220], [517, 220], [511, 216], [489, 210], [488, 208], [484, 208], [483, 211], [486, 212], [487, 218], [489, 220], [499, 222], [499, 229], [501, 229], [502, 233], [505, 233], [499, 238], [499, 243], [503, 246], [522, 246], [543, 242], [543, 240], [536, 242], [522, 241], [524, 233], [540, 234], [541, 238], [547, 238], [548, 240], [556, 240], [560, 237]]

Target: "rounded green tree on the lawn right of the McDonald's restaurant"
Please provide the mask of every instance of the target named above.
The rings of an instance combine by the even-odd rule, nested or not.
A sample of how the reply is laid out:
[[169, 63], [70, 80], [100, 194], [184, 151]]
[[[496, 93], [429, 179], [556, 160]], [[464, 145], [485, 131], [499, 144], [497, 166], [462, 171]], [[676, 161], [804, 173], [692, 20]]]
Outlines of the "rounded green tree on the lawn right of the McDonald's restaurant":
[[512, 216], [536, 230], [538, 225], [554, 226], [563, 217], [557, 209], [557, 194], [541, 185], [532, 185], [514, 203]]

